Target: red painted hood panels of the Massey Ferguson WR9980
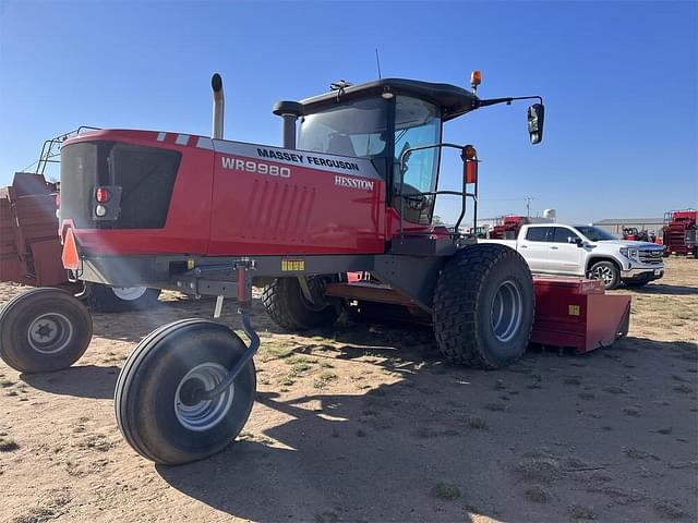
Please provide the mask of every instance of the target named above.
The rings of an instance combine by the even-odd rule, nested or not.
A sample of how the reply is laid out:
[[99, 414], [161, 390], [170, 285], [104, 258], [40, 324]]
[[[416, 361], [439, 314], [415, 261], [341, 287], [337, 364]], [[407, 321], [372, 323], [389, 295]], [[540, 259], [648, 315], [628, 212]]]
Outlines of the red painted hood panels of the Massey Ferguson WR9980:
[[[73, 138], [119, 141], [182, 153], [172, 199], [163, 229], [75, 229], [81, 252], [92, 255], [313, 255], [376, 254], [399, 231], [399, 216], [385, 206], [383, 180], [372, 190], [335, 185], [335, 172], [289, 166], [290, 178], [224, 169], [212, 149], [196, 147], [198, 136], [178, 145], [176, 133], [157, 141], [154, 131], [98, 131]], [[361, 175], [347, 173], [362, 179]], [[71, 224], [63, 224], [73, 227]], [[404, 224], [404, 230], [430, 227]]]

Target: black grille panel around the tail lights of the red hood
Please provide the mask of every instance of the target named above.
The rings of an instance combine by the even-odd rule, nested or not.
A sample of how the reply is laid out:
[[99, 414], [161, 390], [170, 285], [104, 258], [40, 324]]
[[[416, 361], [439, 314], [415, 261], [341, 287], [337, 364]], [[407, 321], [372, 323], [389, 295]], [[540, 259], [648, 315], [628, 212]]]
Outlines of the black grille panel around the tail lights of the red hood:
[[[61, 150], [61, 218], [79, 228], [165, 227], [181, 155], [119, 142], [83, 142]], [[119, 218], [94, 221], [95, 187], [121, 187]]]

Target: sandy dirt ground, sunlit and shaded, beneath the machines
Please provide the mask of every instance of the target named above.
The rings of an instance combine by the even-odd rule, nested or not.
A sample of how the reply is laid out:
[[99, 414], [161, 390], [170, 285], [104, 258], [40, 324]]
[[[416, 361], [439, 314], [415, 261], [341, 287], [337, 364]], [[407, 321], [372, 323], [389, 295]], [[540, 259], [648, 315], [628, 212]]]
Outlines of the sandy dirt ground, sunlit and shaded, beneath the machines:
[[[22, 290], [0, 284], [0, 304]], [[419, 327], [284, 333], [257, 303], [250, 421], [226, 451], [179, 467], [122, 440], [113, 387], [141, 338], [214, 303], [168, 294], [147, 313], [95, 315], [74, 367], [0, 363], [0, 520], [696, 521], [698, 260], [615, 292], [633, 296], [626, 339], [498, 372], [443, 364]]]

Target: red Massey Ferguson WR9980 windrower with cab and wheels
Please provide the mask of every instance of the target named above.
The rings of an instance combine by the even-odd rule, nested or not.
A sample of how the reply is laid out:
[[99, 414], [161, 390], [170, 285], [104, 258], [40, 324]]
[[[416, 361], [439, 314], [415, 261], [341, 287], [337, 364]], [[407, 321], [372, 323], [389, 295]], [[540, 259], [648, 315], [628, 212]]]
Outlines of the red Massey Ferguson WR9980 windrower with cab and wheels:
[[[276, 104], [284, 147], [222, 139], [222, 83], [214, 75], [213, 137], [95, 131], [61, 151], [63, 264], [76, 279], [237, 301], [249, 344], [203, 319], [163, 326], [139, 343], [116, 387], [118, 425], [142, 455], [166, 464], [210, 455], [234, 439], [255, 393], [260, 345], [252, 285], [288, 329], [328, 326], [348, 300], [399, 303], [431, 316], [452, 362], [497, 368], [531, 335], [533, 283], [524, 258], [458, 231], [471, 199], [476, 149], [442, 142], [443, 124], [517, 99], [538, 144], [542, 99], [481, 99], [410, 80], [344, 82], [328, 94]], [[298, 142], [297, 142], [298, 138]], [[438, 191], [440, 160], [456, 148], [462, 190]], [[471, 188], [472, 187], [472, 188]], [[454, 229], [432, 227], [438, 195], [460, 198]], [[347, 281], [370, 272], [381, 284]], [[358, 285], [358, 287], [357, 287]], [[92, 336], [71, 295], [35, 289], [0, 315], [0, 354], [22, 372], [70, 366]]]

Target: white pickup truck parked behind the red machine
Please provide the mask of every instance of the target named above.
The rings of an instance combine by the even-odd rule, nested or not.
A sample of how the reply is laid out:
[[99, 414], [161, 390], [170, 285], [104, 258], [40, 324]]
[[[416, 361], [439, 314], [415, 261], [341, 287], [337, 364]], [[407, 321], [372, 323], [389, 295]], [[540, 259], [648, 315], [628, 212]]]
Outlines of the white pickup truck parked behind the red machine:
[[592, 226], [522, 226], [516, 240], [479, 240], [518, 251], [533, 273], [603, 280], [606, 289], [640, 287], [664, 276], [663, 250], [648, 242], [618, 240]]

